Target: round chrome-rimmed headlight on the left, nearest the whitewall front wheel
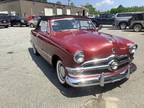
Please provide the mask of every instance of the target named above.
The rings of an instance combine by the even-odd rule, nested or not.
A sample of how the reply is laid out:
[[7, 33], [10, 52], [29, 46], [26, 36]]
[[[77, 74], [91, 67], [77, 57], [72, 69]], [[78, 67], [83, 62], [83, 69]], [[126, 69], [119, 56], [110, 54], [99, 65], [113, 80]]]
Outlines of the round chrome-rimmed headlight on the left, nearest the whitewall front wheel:
[[84, 61], [84, 53], [83, 53], [83, 51], [77, 51], [74, 54], [74, 61], [76, 63], [82, 63]]

